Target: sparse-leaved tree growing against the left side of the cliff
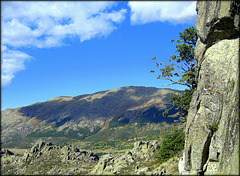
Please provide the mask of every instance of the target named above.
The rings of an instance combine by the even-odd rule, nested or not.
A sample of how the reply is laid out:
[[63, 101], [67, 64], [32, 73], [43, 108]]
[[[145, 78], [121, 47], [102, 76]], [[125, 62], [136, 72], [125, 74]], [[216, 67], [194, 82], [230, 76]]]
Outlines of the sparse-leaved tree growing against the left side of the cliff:
[[[184, 85], [187, 87], [182, 94], [171, 94], [170, 100], [173, 101], [173, 107], [179, 110], [174, 115], [168, 115], [171, 108], [166, 109], [164, 116], [176, 117], [180, 116], [181, 121], [185, 121], [185, 116], [188, 113], [189, 105], [192, 99], [192, 94], [197, 87], [195, 79], [195, 56], [194, 49], [197, 42], [197, 32], [194, 27], [184, 29], [183, 33], [179, 32], [180, 40], [171, 40], [176, 42], [176, 53], [169, 59], [169, 64], [166, 62], [156, 62], [156, 66], [160, 68], [160, 74], [157, 79], [168, 80], [172, 84]], [[156, 56], [151, 58], [156, 60]], [[155, 70], [151, 70], [152, 73]]]

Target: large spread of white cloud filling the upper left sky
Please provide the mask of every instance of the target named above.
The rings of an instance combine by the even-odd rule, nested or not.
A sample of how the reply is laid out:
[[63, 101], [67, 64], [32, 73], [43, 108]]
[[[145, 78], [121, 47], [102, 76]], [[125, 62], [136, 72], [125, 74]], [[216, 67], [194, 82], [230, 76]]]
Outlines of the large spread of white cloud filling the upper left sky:
[[9, 47], [50, 48], [62, 46], [65, 38], [81, 42], [107, 36], [126, 14], [112, 10], [116, 2], [22, 1], [2, 2], [2, 87], [11, 83], [16, 72], [25, 68], [29, 55]]

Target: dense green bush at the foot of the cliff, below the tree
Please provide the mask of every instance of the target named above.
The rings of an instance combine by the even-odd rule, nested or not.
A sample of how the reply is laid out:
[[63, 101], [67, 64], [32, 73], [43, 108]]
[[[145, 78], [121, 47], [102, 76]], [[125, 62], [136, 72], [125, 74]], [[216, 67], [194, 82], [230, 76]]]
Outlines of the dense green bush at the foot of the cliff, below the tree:
[[184, 139], [185, 134], [183, 129], [179, 130], [173, 126], [171, 130], [164, 135], [160, 149], [156, 151], [154, 158], [157, 158], [160, 164], [172, 158], [184, 149]]

